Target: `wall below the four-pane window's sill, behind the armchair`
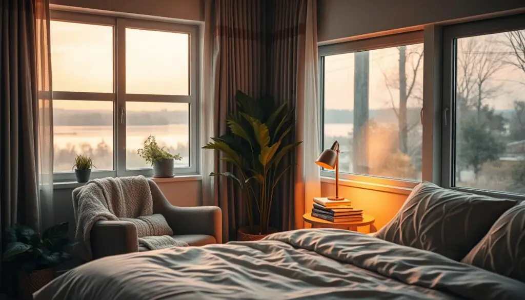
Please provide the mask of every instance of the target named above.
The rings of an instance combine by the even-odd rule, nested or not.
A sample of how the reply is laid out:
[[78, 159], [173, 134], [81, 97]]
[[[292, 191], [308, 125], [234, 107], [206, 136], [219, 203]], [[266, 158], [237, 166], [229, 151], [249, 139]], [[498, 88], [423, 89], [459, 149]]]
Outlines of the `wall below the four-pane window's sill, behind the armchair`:
[[[171, 204], [177, 206], [202, 205], [202, 181], [171, 181], [158, 182], [159, 188]], [[54, 223], [66, 222], [70, 224], [70, 235], [75, 236], [75, 213], [73, 211], [73, 188], [54, 190]], [[46, 216], [44, 216], [46, 218]]]

